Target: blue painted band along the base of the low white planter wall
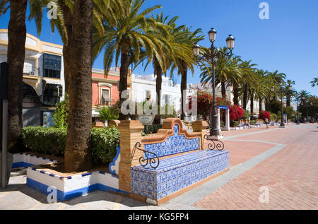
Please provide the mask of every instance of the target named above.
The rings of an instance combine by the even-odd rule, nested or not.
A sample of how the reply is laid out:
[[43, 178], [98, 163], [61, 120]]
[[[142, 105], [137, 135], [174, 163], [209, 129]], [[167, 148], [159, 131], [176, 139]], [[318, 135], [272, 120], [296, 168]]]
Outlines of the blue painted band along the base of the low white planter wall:
[[[40, 191], [42, 194], [47, 195], [50, 193], [50, 192], [47, 192], [47, 188], [49, 186], [47, 186], [46, 184], [42, 184], [40, 182], [37, 182], [37, 181], [30, 179], [28, 177], [27, 177], [27, 185], [28, 185], [28, 187], [31, 187], [37, 191]], [[83, 187], [81, 189], [76, 189], [73, 191], [64, 192], [64, 191], [57, 190], [57, 199], [59, 201], [66, 201], [69, 199], [76, 198], [78, 196], [82, 196], [83, 194], [87, 194], [88, 192], [95, 191], [95, 190], [106, 191], [106, 192], [114, 191], [114, 192], [129, 194], [129, 192], [122, 191], [119, 189], [114, 189], [112, 187], [105, 186], [104, 184], [93, 184], [93, 185], [90, 185], [88, 187]]]

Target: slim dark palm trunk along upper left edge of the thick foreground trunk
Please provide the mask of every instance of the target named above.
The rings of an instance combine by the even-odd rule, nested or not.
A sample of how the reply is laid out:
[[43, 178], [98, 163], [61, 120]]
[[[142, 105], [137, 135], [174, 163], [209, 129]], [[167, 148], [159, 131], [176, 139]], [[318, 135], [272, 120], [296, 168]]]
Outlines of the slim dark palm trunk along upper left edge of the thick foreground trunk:
[[63, 46], [63, 60], [64, 60], [64, 81], [65, 81], [65, 93], [69, 94], [69, 86], [71, 82], [71, 50], [72, 47], [72, 40], [73, 40], [73, 15], [71, 10], [69, 9], [66, 4], [61, 4], [63, 17], [64, 17], [64, 24], [66, 27], [67, 33], [67, 42]]

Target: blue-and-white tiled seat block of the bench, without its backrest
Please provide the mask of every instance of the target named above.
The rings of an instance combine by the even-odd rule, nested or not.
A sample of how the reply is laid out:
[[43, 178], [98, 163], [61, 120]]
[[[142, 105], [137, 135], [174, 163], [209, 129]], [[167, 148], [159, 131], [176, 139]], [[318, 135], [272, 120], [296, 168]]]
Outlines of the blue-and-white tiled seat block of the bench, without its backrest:
[[156, 201], [228, 168], [228, 151], [204, 150], [131, 167], [131, 192]]

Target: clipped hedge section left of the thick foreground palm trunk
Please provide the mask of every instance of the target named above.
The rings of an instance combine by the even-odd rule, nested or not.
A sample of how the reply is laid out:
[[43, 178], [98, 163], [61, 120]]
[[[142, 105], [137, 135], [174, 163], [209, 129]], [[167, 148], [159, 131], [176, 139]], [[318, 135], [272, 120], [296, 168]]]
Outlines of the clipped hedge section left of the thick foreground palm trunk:
[[22, 131], [23, 145], [35, 153], [64, 155], [66, 146], [66, 129], [26, 126]]

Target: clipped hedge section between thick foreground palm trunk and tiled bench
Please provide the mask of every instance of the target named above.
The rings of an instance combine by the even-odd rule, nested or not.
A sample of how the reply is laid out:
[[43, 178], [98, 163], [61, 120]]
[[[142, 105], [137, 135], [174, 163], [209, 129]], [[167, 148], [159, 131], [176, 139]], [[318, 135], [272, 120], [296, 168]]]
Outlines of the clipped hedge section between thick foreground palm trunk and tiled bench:
[[93, 155], [93, 163], [111, 163], [119, 146], [120, 132], [115, 126], [105, 129], [93, 129], [90, 151]]

